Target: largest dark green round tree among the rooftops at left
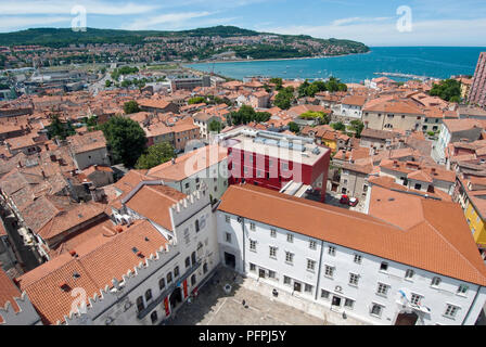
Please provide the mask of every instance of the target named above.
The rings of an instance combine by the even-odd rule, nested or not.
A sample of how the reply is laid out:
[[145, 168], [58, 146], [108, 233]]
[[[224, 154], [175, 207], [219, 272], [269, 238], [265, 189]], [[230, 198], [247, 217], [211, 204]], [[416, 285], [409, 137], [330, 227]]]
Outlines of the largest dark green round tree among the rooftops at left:
[[115, 116], [101, 126], [115, 163], [133, 167], [146, 145], [145, 132], [140, 125], [128, 118]]

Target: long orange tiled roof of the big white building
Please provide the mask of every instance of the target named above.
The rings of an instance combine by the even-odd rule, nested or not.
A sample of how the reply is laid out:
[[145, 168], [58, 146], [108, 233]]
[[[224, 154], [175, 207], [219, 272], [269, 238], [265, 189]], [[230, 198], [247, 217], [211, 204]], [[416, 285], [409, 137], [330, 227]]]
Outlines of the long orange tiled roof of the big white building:
[[[461, 281], [486, 284], [486, 266], [459, 206], [413, 200], [413, 210], [401, 224], [398, 215], [412, 207], [399, 196], [395, 197], [396, 205], [391, 204], [389, 193], [373, 196], [370, 214], [378, 211], [379, 218], [259, 187], [231, 185], [218, 209]], [[397, 221], [401, 226], [396, 226]]]

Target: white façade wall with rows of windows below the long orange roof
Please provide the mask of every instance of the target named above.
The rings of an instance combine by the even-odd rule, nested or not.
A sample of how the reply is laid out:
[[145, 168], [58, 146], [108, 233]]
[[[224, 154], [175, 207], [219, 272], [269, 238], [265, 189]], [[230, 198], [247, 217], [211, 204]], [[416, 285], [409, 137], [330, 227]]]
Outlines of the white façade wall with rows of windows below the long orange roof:
[[[226, 221], [226, 216], [230, 216], [229, 223]], [[398, 313], [404, 311], [402, 303], [398, 300], [401, 297], [399, 291], [402, 291], [408, 299], [411, 298], [412, 293], [421, 295], [423, 297], [421, 304], [431, 309], [431, 313], [419, 312], [417, 324], [462, 324], [478, 290], [478, 286], [472, 283], [464, 283], [456, 279], [382, 259], [338, 245], [332, 245], [323, 241], [317, 241], [316, 249], [310, 249], [309, 241], [311, 239], [309, 236], [273, 228], [257, 221], [255, 221], [256, 230], [253, 231], [250, 230], [250, 222], [252, 221], [248, 219], [244, 219], [243, 221], [244, 230], [242, 229], [242, 224], [238, 222], [238, 216], [217, 211], [221, 261], [223, 261], [222, 253], [225, 249], [233, 252], [236, 256], [238, 271], [255, 279], [258, 278], [258, 270], [260, 268], [276, 271], [274, 280], [267, 278], [259, 279], [259, 281], [265, 281], [277, 288], [293, 293], [295, 296], [307, 298], [310, 301], [327, 307], [331, 307], [333, 296], [341, 297], [341, 307], [333, 307], [333, 310], [345, 311], [346, 314], [368, 323], [394, 324]], [[272, 228], [277, 230], [277, 237], [274, 239], [270, 236], [270, 229]], [[231, 244], [228, 244], [225, 240], [226, 232], [232, 235]], [[293, 234], [293, 243], [286, 241], [287, 233]], [[257, 242], [256, 252], [250, 250], [250, 240]], [[278, 247], [277, 259], [269, 257], [270, 245]], [[329, 254], [329, 246], [336, 248], [334, 256]], [[294, 254], [293, 265], [285, 262], [285, 252]], [[361, 264], [354, 262], [355, 254], [361, 255]], [[242, 264], [243, 259], [244, 269]], [[307, 259], [317, 260], [314, 273], [307, 270]], [[387, 271], [380, 270], [382, 261], [388, 264]], [[251, 262], [256, 265], [255, 272], [250, 270]], [[324, 266], [334, 268], [332, 279], [324, 275]], [[405, 279], [405, 273], [408, 269], [414, 271], [411, 280]], [[357, 286], [349, 284], [350, 273], [359, 275]], [[292, 279], [292, 285], [283, 283], [284, 275]], [[442, 280], [438, 287], [431, 285], [434, 277], [439, 277]], [[293, 292], [294, 281], [302, 283], [300, 293]], [[312, 285], [311, 294], [304, 292], [305, 283]], [[376, 294], [379, 283], [389, 285], [386, 296]], [[461, 284], [469, 286], [465, 295], [457, 294], [457, 290]], [[341, 291], [337, 292], [337, 287], [341, 287]], [[329, 299], [321, 298], [321, 290], [331, 293]], [[344, 307], [345, 298], [355, 301], [353, 309]], [[476, 298], [475, 306], [465, 322], [466, 324], [473, 324], [475, 322], [485, 300], [485, 288], [482, 288]], [[380, 317], [370, 314], [373, 303], [383, 306], [383, 311]], [[447, 304], [459, 307], [459, 311], [453, 319], [444, 316]]]

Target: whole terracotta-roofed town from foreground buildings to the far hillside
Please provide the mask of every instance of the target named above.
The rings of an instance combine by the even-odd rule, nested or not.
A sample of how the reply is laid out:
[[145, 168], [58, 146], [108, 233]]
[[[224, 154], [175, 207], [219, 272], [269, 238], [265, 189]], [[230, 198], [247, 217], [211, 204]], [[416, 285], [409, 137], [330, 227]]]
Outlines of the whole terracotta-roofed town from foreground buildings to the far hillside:
[[368, 49], [230, 34], [0, 48], [0, 325], [485, 324], [486, 52], [443, 80], [184, 66]]

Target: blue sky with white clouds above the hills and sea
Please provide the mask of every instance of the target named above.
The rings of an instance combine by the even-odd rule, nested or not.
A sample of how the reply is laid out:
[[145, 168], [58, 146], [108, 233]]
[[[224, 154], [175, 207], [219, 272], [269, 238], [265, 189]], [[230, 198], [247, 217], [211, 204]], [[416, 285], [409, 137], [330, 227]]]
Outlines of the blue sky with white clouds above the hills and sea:
[[[87, 26], [95, 28], [235, 25], [368, 46], [486, 47], [485, 0], [0, 0], [0, 31], [69, 27], [76, 5], [86, 9]], [[398, 11], [401, 7], [406, 12]]]

